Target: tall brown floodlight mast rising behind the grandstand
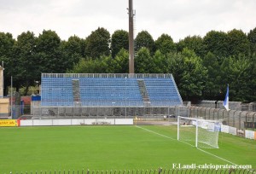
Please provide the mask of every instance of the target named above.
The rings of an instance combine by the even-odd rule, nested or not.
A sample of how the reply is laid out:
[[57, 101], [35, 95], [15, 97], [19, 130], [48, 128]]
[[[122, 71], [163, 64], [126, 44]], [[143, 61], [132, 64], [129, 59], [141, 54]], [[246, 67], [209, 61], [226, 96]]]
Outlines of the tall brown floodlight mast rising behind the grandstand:
[[129, 0], [129, 73], [134, 73], [133, 0]]

